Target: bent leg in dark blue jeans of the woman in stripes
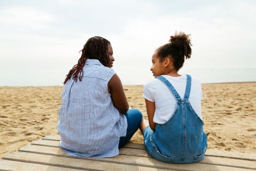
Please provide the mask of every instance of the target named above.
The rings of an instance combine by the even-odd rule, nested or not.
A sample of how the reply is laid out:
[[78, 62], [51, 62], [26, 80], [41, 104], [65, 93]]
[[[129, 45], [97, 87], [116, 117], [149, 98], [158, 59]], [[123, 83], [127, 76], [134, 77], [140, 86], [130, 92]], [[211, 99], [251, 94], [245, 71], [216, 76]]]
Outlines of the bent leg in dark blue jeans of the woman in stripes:
[[129, 142], [132, 135], [138, 130], [142, 120], [142, 114], [138, 109], [129, 109], [125, 116], [127, 118], [127, 132], [126, 136], [120, 137], [118, 148], [124, 147], [124, 145]]

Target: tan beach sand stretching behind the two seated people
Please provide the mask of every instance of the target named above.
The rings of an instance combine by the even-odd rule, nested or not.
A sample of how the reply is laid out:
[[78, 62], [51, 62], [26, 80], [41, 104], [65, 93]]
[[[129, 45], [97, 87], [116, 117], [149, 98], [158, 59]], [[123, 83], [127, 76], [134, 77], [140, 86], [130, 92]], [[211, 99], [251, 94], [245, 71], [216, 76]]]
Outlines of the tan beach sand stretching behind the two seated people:
[[[256, 152], [256, 82], [203, 84], [202, 115], [208, 148]], [[143, 86], [124, 86], [130, 107], [147, 118]], [[61, 86], [0, 87], [0, 158], [58, 134]], [[132, 142], [143, 143], [137, 131]]]

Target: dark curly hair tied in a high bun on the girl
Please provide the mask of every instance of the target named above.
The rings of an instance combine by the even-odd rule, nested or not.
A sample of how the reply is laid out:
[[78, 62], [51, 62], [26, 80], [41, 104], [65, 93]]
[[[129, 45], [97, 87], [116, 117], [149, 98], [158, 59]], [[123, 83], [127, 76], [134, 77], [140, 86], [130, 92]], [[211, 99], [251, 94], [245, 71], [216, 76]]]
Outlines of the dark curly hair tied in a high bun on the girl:
[[169, 43], [159, 47], [157, 56], [163, 60], [165, 57], [172, 57], [174, 67], [177, 71], [183, 66], [185, 58], [191, 57], [191, 42], [190, 35], [186, 35], [184, 32], [175, 32], [174, 36], [171, 36]]

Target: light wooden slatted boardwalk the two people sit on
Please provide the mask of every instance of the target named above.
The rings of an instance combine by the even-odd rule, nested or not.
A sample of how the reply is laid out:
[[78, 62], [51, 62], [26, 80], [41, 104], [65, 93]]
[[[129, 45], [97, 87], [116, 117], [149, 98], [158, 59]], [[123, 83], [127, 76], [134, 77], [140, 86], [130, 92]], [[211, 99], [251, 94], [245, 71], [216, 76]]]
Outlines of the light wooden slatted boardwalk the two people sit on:
[[194, 164], [168, 164], [151, 158], [143, 144], [128, 143], [112, 158], [74, 158], [58, 147], [59, 135], [45, 136], [0, 159], [0, 170], [256, 170], [256, 153], [208, 149]]

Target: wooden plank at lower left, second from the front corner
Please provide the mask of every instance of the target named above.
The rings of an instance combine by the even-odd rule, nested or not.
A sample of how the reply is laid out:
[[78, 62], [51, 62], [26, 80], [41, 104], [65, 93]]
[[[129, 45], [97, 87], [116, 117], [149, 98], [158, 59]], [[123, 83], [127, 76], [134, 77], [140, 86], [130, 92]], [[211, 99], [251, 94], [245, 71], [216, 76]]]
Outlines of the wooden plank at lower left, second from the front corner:
[[[143, 166], [132, 166], [120, 163], [110, 163], [105, 161], [90, 160], [88, 158], [72, 158], [42, 155], [38, 153], [27, 153], [14, 151], [4, 157], [5, 160], [20, 161], [23, 163], [35, 163], [41, 165], [58, 166], [62, 168], [86, 169], [86, 170], [164, 170], [158, 168], [148, 168]], [[1, 167], [0, 167], [1, 168]]]

